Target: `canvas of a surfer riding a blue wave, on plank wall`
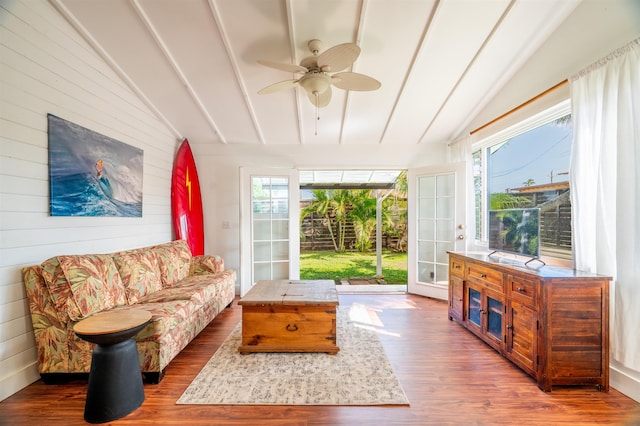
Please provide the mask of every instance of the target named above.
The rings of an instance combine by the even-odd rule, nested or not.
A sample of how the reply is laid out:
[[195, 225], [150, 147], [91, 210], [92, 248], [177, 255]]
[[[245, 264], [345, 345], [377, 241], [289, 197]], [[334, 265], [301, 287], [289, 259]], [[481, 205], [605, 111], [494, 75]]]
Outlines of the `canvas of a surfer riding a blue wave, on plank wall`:
[[47, 117], [51, 216], [141, 217], [143, 151]]

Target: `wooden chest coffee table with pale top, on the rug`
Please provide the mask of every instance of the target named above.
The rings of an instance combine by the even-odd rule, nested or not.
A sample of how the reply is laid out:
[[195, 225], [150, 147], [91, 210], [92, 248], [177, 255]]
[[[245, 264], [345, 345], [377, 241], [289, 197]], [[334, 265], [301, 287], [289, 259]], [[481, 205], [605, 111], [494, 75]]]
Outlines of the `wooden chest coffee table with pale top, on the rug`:
[[337, 353], [333, 281], [258, 281], [238, 302], [242, 345], [250, 352]]

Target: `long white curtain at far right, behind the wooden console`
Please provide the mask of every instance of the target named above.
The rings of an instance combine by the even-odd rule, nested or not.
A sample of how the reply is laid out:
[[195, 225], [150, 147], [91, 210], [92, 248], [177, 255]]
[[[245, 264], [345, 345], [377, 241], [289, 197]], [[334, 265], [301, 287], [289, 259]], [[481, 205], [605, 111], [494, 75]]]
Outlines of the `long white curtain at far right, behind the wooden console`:
[[575, 265], [614, 278], [611, 356], [640, 372], [640, 39], [570, 84]]

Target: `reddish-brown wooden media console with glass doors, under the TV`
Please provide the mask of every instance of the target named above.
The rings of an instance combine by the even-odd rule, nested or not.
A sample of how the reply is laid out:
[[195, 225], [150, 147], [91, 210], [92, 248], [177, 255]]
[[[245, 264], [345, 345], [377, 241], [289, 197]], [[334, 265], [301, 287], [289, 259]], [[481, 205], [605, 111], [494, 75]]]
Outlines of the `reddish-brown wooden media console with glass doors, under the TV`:
[[608, 391], [610, 280], [450, 252], [449, 319], [533, 376], [543, 391], [555, 385]]

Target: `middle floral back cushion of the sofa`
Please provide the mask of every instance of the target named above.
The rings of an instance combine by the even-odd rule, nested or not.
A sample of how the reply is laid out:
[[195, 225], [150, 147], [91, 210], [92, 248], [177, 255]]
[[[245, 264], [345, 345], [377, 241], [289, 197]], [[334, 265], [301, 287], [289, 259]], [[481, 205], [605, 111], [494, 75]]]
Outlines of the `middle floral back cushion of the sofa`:
[[158, 259], [153, 251], [135, 250], [115, 254], [113, 261], [120, 272], [130, 305], [162, 289]]

